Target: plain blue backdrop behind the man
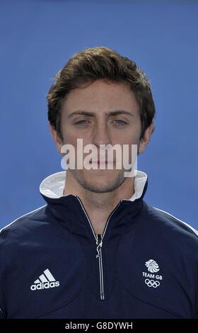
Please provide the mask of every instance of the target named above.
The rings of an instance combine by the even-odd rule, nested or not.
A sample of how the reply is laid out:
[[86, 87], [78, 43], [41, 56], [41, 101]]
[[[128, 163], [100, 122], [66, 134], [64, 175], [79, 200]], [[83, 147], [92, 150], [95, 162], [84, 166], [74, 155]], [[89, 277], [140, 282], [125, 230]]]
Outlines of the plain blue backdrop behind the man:
[[45, 205], [40, 182], [62, 171], [45, 95], [74, 52], [101, 45], [152, 83], [156, 131], [138, 164], [146, 201], [198, 227], [197, 1], [0, 0], [0, 33], [1, 227]]

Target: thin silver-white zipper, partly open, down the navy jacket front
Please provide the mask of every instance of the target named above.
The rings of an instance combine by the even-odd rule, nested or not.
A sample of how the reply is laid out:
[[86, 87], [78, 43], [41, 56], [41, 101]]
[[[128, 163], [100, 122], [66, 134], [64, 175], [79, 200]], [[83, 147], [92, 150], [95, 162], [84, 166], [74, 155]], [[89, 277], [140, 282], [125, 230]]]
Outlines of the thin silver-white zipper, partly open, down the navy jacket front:
[[98, 259], [98, 266], [99, 266], [99, 275], [100, 275], [100, 300], [104, 300], [105, 299], [105, 293], [104, 293], [104, 275], [103, 275], [103, 256], [102, 256], [102, 245], [103, 245], [103, 238], [105, 236], [105, 232], [107, 230], [107, 226], [109, 224], [110, 218], [112, 217], [112, 214], [115, 213], [115, 210], [117, 210], [117, 208], [120, 206], [120, 203], [122, 203], [122, 200], [117, 204], [117, 206], [114, 208], [114, 210], [112, 210], [112, 212], [110, 213], [109, 217], [107, 218], [107, 222], [105, 224], [105, 229], [103, 231], [102, 235], [96, 235], [95, 231], [93, 229], [93, 225], [91, 223], [90, 218], [88, 217], [88, 214], [86, 213], [86, 210], [83, 206], [83, 203], [81, 202], [81, 199], [76, 196], [76, 198], [78, 199], [79, 203], [81, 203], [81, 208], [83, 209], [83, 212], [86, 215], [86, 218], [88, 220], [88, 223], [91, 227], [91, 230], [93, 232], [93, 236], [95, 238], [95, 242], [96, 242], [96, 259]]

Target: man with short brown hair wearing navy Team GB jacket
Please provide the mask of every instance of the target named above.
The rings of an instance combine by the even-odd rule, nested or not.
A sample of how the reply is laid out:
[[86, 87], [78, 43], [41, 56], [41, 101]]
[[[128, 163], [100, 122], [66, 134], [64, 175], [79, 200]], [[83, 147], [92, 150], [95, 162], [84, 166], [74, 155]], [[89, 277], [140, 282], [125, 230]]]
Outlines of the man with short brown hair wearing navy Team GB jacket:
[[146, 75], [113, 50], [88, 48], [57, 74], [47, 100], [59, 152], [69, 144], [78, 155], [81, 139], [98, 149], [88, 164], [101, 167], [48, 176], [47, 205], [1, 230], [1, 317], [197, 317], [197, 232], [144, 201], [143, 171], [124, 176], [115, 154], [112, 169], [98, 155], [101, 145], [144, 152], [155, 115]]

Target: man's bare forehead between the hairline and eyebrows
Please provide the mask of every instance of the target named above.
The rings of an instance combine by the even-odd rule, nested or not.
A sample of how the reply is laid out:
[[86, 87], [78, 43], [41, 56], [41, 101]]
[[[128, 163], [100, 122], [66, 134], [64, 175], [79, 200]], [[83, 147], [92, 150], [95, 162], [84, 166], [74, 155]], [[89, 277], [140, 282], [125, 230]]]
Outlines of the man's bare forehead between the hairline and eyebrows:
[[63, 103], [63, 111], [69, 115], [75, 110], [85, 109], [91, 112], [106, 112], [110, 109], [136, 110], [138, 103], [130, 87], [123, 82], [108, 83], [97, 80], [69, 92]]

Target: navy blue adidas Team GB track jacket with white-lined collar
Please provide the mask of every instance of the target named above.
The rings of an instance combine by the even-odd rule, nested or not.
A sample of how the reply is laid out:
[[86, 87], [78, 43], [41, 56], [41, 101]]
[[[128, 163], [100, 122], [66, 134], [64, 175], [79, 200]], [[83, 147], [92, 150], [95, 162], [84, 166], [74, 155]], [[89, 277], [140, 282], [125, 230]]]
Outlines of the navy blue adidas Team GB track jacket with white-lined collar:
[[65, 175], [42, 181], [47, 205], [1, 230], [0, 317], [196, 318], [197, 232], [143, 200], [146, 174], [103, 235], [78, 196], [63, 196]]

